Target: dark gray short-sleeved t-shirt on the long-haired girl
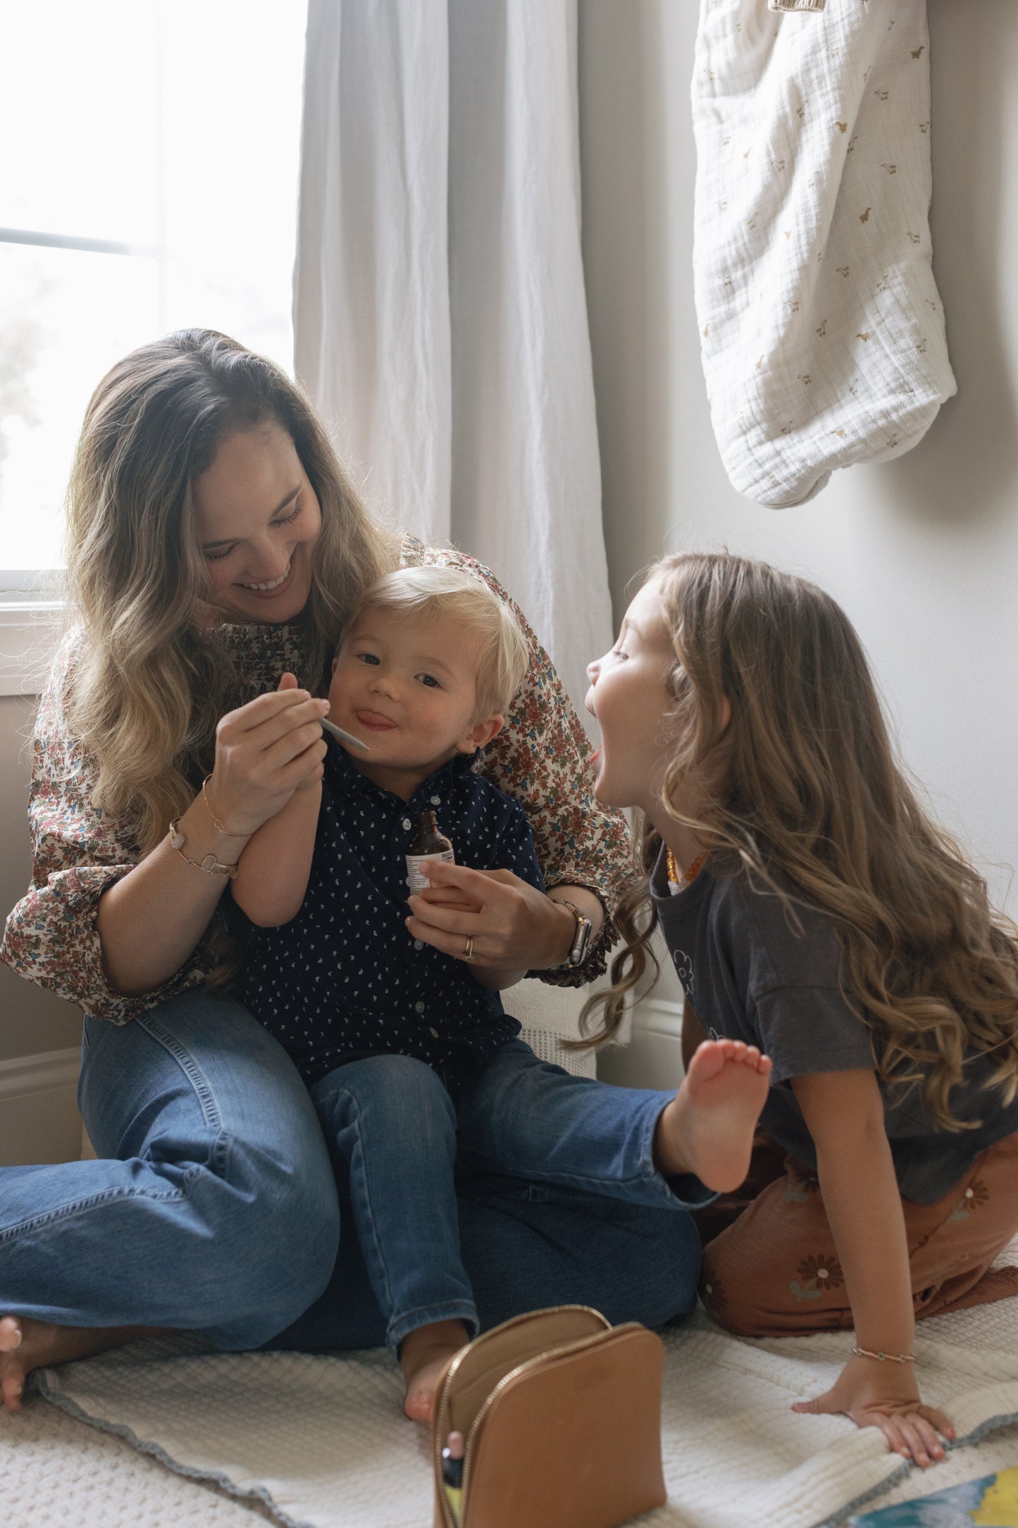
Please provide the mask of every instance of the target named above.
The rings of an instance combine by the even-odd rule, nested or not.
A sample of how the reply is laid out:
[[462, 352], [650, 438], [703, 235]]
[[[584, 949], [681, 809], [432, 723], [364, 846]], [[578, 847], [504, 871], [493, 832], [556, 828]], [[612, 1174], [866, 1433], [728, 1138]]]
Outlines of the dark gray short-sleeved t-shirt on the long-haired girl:
[[[818, 1071], [873, 1067], [870, 1030], [838, 984], [839, 941], [821, 912], [798, 906], [798, 932], [784, 902], [754, 886], [745, 871], [733, 877], [701, 871], [672, 895], [664, 854], [650, 891], [682, 989], [711, 1039], [759, 1045], [774, 1062], [763, 1129], [813, 1170], [817, 1152], [795, 1102], [791, 1079]], [[1018, 1131], [1018, 1099], [1007, 1108], [978, 1051], [966, 1057], [966, 1080], [951, 1093], [960, 1120], [978, 1129], [945, 1131], [920, 1088], [881, 1082], [884, 1123], [897, 1186], [907, 1199], [933, 1204], [981, 1151]]]

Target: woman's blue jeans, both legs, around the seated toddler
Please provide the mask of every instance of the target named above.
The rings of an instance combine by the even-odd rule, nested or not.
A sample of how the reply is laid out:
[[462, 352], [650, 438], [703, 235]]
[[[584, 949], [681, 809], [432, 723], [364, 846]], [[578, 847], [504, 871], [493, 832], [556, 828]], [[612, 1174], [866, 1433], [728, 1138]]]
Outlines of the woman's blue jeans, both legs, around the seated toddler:
[[[0, 1169], [2, 1311], [226, 1349], [385, 1342], [311, 1097], [244, 1007], [197, 990], [85, 1021], [79, 1105], [99, 1161]], [[656, 1326], [696, 1303], [699, 1239], [672, 1209], [470, 1172], [458, 1216], [481, 1328], [574, 1300]]]

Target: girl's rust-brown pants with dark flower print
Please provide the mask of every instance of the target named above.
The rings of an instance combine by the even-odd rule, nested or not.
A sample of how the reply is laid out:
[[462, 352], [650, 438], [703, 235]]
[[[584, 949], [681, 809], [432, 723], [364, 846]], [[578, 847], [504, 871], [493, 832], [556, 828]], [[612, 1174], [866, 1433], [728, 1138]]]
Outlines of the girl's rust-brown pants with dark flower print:
[[[902, 1199], [916, 1317], [1018, 1294], [1018, 1268], [992, 1268], [1018, 1233], [1018, 1135], [981, 1152], [936, 1204]], [[737, 1193], [696, 1212], [701, 1299], [743, 1337], [852, 1328], [817, 1175], [757, 1134]]]

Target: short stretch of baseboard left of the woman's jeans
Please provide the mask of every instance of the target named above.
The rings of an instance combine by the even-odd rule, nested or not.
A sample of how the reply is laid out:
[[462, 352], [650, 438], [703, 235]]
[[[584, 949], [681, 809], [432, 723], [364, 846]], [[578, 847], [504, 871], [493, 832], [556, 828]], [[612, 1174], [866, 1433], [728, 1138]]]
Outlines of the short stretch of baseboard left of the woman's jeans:
[[81, 1157], [78, 1047], [0, 1060], [0, 1166]]

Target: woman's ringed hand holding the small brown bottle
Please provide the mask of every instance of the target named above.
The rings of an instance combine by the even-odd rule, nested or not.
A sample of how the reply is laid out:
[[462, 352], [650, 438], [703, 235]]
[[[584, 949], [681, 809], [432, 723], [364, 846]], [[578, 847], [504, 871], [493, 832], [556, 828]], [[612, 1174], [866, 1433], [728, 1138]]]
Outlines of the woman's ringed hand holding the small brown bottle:
[[433, 860], [429, 891], [409, 898], [415, 940], [462, 958], [467, 937], [479, 966], [546, 970], [569, 955], [575, 918], [510, 869], [467, 869]]

